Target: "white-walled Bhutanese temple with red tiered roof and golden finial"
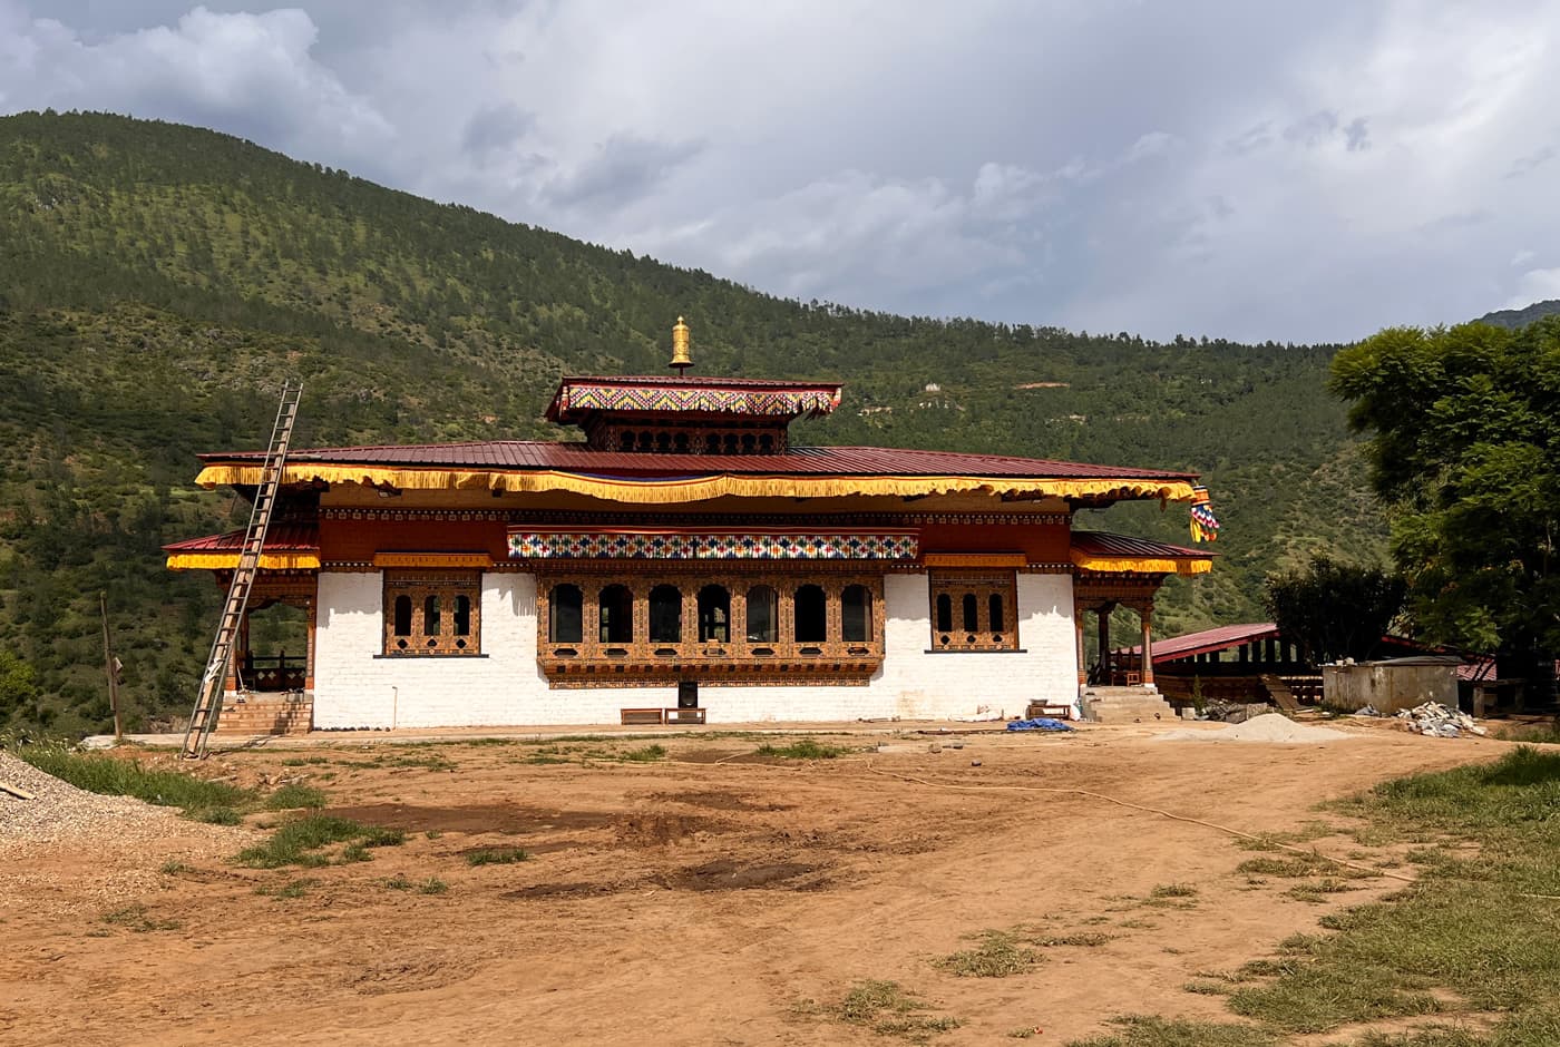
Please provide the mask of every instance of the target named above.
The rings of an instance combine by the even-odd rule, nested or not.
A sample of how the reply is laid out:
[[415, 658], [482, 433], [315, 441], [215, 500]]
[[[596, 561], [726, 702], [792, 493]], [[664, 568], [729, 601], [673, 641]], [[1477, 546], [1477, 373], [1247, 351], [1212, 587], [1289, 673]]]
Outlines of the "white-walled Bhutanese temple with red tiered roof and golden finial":
[[[1211, 554], [1094, 531], [1080, 509], [1190, 502], [1195, 474], [807, 446], [835, 382], [565, 378], [573, 442], [292, 449], [218, 730], [989, 719], [1070, 707], [1086, 632]], [[802, 423], [799, 423], [800, 428]], [[254, 496], [265, 451], [203, 454]], [[165, 548], [226, 587], [243, 532]], [[1117, 641], [1122, 638], [1119, 637]], [[1153, 690], [1153, 657], [1104, 683]]]

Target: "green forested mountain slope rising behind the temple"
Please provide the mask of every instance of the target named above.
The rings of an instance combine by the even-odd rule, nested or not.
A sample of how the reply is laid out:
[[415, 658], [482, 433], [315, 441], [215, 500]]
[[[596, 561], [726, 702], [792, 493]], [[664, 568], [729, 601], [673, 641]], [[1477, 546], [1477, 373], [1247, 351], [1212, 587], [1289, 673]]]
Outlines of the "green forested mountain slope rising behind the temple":
[[[1167, 587], [1167, 635], [1260, 618], [1262, 576], [1310, 549], [1384, 549], [1324, 390], [1335, 346], [786, 301], [211, 131], [20, 114], [0, 119], [0, 727], [103, 726], [103, 590], [131, 721], [187, 710], [218, 593], [158, 546], [240, 520], [192, 487], [193, 453], [264, 443], [284, 378], [307, 387], [298, 446], [555, 437], [558, 376], [661, 371], [679, 314], [700, 373], [846, 382], [803, 440], [1203, 473], [1223, 559]], [[1186, 507], [1083, 524], [1184, 540]]]

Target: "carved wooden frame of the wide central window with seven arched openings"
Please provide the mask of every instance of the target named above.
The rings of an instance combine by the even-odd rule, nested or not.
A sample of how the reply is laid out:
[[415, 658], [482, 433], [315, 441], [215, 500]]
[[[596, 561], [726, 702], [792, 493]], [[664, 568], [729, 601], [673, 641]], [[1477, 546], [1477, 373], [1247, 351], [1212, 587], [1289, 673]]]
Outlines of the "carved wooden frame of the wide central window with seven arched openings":
[[[562, 566], [562, 565], [560, 565]], [[585, 593], [582, 643], [551, 643], [552, 591], [577, 585]], [[633, 640], [602, 640], [601, 591], [622, 585], [632, 594]], [[672, 641], [651, 641], [649, 594], [660, 585], [674, 585], [682, 594], [682, 635]], [[708, 585], [725, 588], [730, 604], [729, 640], [699, 640], [699, 591]], [[757, 585], [775, 590], [777, 638], [749, 640], [747, 594]], [[816, 643], [796, 640], [796, 591], [803, 585], [824, 590], [825, 638]], [[867, 638], [842, 638], [842, 598], [846, 588], [860, 585], [870, 598]], [[646, 571], [626, 577], [619, 573], [546, 571], [537, 577], [537, 662], [551, 687], [641, 687], [699, 680], [708, 685], [864, 685], [883, 665], [883, 576], [841, 571]]]

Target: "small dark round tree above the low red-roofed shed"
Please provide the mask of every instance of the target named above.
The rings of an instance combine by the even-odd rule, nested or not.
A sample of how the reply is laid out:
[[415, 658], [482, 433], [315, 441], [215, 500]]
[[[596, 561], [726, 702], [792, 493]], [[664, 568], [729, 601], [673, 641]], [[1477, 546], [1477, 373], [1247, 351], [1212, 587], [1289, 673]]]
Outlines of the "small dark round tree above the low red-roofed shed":
[[1402, 610], [1404, 584], [1374, 566], [1314, 555], [1304, 568], [1270, 574], [1262, 604], [1307, 662], [1363, 662]]

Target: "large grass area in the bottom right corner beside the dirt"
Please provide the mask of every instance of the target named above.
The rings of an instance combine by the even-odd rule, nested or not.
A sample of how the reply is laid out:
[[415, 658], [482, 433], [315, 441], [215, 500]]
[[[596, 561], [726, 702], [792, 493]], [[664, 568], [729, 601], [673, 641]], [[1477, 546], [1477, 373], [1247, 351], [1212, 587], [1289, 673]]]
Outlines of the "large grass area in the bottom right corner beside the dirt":
[[[1237, 991], [1231, 1008], [1285, 1033], [1494, 1013], [1501, 1025], [1473, 1042], [1560, 1042], [1560, 911], [1523, 897], [1560, 894], [1560, 754], [1519, 747], [1493, 763], [1384, 782], [1346, 807], [1382, 838], [1431, 833], [1420, 880], [1321, 917], [1334, 935], [1285, 939], [1289, 956], [1259, 971], [1271, 980]], [[1471, 841], [1477, 855], [1451, 854], [1445, 841]], [[1445, 1036], [1406, 1033], [1399, 1042], [1457, 1042]]]

